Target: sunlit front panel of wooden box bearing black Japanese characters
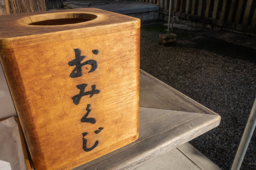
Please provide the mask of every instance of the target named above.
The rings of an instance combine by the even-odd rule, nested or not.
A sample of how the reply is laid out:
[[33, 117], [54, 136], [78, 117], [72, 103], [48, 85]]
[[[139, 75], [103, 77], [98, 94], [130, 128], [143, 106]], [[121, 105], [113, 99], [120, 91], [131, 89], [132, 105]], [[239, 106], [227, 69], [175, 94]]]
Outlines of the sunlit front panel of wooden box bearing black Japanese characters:
[[74, 168], [138, 138], [139, 34], [13, 49], [29, 108], [18, 115], [33, 117], [22, 127], [33, 127], [25, 135], [37, 141], [28, 146], [36, 170]]

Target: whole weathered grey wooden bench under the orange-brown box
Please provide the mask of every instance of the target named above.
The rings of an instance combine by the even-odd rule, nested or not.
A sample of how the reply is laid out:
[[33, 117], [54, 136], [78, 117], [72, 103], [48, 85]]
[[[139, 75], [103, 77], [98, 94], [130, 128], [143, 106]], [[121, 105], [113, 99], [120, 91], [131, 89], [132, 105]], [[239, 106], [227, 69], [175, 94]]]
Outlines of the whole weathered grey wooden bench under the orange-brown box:
[[217, 113], [141, 70], [138, 140], [74, 170], [134, 170], [219, 123]]

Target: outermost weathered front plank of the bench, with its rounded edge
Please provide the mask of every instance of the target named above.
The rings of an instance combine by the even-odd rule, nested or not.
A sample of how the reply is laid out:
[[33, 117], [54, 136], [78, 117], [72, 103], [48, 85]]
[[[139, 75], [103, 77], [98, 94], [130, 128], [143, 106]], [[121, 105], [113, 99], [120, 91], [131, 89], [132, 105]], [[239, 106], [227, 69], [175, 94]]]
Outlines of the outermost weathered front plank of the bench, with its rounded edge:
[[219, 121], [220, 119], [216, 115], [203, 114], [165, 132], [157, 133], [143, 140], [140, 138], [140, 140], [134, 143], [77, 167], [74, 170], [134, 170], [150, 160], [163, 155], [168, 150], [176, 148], [192, 138], [211, 130], [219, 124]]

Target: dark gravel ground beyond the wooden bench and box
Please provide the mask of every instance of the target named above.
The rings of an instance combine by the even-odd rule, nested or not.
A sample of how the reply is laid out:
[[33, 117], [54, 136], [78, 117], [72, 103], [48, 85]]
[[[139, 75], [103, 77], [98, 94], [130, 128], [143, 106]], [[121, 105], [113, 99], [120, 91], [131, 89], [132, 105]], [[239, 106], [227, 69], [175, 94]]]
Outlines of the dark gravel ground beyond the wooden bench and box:
[[[158, 44], [161, 24], [141, 28], [141, 69], [221, 116], [220, 125], [190, 143], [223, 170], [235, 158], [256, 96], [256, 50], [174, 30], [173, 47]], [[241, 170], [256, 170], [256, 133]]]

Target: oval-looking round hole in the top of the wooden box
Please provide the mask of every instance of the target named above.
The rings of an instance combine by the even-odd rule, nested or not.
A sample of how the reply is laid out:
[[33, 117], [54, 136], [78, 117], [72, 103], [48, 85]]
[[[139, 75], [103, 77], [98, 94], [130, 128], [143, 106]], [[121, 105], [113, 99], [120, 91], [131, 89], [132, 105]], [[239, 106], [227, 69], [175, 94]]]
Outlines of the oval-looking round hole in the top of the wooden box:
[[20, 20], [23, 24], [28, 25], [67, 25], [84, 23], [97, 18], [97, 15], [88, 13], [49, 13], [42, 15], [32, 15]]

